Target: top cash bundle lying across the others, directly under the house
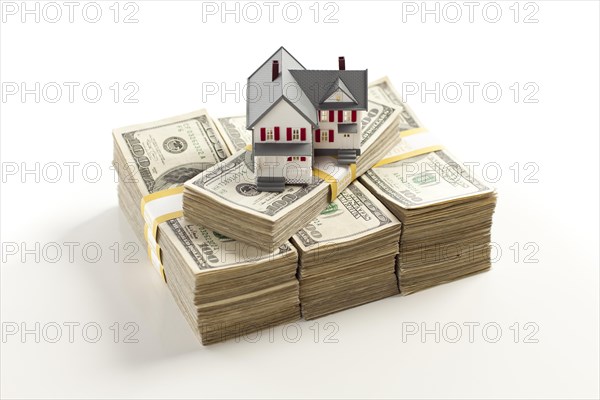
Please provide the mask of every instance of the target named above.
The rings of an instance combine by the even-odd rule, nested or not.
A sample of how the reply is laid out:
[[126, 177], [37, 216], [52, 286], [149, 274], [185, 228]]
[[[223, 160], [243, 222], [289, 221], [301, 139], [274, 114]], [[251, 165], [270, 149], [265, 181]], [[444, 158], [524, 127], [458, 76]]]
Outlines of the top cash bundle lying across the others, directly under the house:
[[[356, 163], [356, 176], [371, 168], [399, 141], [400, 110], [374, 101], [368, 104], [368, 116], [361, 122], [361, 155]], [[231, 128], [224, 126], [223, 135], [231, 143], [238, 143], [236, 148], [239, 148], [239, 132], [229, 132], [228, 127]], [[339, 182], [347, 185], [352, 180], [350, 166], [338, 165], [333, 157], [317, 159], [318, 168]], [[315, 177], [308, 185], [287, 185], [281, 193], [259, 192], [253, 168], [251, 151], [241, 149], [186, 182], [183, 196], [186, 217], [233, 239], [271, 250], [329, 204], [334, 189], [325, 179]]]

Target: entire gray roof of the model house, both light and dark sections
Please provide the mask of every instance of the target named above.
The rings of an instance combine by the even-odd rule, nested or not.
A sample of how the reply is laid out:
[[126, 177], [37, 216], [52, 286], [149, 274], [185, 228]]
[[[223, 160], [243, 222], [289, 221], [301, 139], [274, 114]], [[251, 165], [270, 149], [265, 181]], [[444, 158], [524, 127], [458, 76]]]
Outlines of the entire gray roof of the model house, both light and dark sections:
[[[280, 74], [272, 81], [273, 60]], [[280, 101], [288, 102], [311, 125], [317, 126], [317, 109], [367, 109], [367, 70], [306, 70], [285, 48], [280, 47], [250, 77], [247, 86], [246, 128], [254, 125]], [[337, 89], [352, 102], [324, 102]]]

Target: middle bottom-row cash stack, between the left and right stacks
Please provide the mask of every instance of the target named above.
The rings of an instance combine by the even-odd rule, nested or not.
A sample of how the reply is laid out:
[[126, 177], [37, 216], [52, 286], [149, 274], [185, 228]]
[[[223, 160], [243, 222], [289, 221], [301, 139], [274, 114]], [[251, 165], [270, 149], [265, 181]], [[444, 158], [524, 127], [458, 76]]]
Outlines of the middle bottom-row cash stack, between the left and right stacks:
[[352, 183], [292, 242], [300, 253], [302, 316], [313, 319], [398, 294], [400, 222]]

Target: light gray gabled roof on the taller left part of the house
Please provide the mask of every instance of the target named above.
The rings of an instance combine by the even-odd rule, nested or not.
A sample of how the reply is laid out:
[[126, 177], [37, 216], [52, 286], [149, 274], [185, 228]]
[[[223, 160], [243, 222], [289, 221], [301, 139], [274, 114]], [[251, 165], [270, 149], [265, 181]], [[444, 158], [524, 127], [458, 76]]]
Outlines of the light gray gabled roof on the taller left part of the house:
[[[279, 62], [279, 76], [272, 78], [273, 60]], [[310, 99], [299, 90], [289, 70], [304, 70], [284, 47], [280, 47], [250, 77], [246, 94], [246, 128], [254, 124], [281, 99], [286, 100], [300, 115], [313, 125], [317, 124], [317, 112]]]

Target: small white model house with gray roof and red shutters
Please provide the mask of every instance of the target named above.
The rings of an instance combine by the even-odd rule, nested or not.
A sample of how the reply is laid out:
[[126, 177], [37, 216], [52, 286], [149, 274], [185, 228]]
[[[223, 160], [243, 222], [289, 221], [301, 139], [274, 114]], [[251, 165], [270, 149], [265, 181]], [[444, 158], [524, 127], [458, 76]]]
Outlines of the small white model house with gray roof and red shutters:
[[258, 190], [311, 183], [314, 156], [356, 162], [367, 70], [346, 70], [344, 57], [338, 62], [337, 70], [307, 70], [281, 47], [248, 78], [246, 127]]

